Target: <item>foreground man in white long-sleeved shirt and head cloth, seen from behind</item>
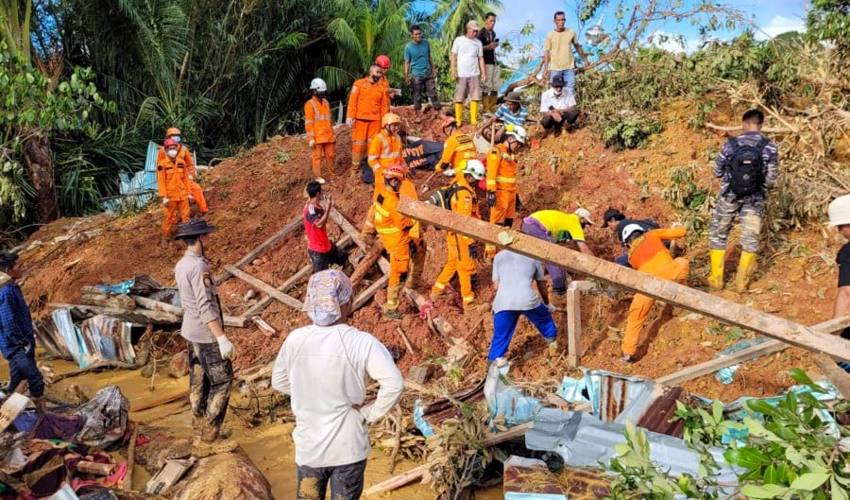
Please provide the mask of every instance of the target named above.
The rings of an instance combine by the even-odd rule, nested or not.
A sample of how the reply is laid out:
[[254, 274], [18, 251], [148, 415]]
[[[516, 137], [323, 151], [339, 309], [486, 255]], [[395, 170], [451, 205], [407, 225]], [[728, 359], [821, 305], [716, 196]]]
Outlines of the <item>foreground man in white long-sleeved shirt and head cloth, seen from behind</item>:
[[[312, 325], [292, 331], [280, 348], [272, 387], [291, 395], [295, 413], [297, 498], [356, 500], [363, 491], [369, 424], [383, 418], [404, 387], [386, 347], [348, 326], [351, 281], [329, 269], [310, 277], [303, 311]], [[366, 375], [380, 384], [374, 403], [363, 406]]]

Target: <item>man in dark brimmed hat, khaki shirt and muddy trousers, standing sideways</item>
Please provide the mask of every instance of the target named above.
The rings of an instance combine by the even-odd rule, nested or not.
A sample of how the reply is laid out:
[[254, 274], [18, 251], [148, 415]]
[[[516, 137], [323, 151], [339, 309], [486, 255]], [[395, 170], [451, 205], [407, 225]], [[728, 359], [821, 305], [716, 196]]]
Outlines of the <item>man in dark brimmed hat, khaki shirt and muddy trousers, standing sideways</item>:
[[[183, 325], [180, 336], [186, 339], [189, 352], [189, 403], [192, 408], [192, 453], [211, 454], [211, 445], [230, 437], [221, 424], [227, 413], [230, 389], [233, 385], [233, 364], [236, 353], [224, 335], [224, 317], [207, 261], [204, 247], [210, 244], [215, 226], [203, 219], [181, 224], [175, 240], [186, 243], [186, 253], [174, 268], [180, 303], [183, 305]], [[221, 449], [235, 443], [222, 443]]]

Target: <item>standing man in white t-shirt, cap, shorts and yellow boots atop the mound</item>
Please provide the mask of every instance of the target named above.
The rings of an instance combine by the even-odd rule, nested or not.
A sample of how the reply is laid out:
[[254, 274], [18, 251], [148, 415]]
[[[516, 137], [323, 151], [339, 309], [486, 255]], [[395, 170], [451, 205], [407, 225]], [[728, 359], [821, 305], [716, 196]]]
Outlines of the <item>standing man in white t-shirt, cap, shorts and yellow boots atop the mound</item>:
[[487, 81], [484, 72], [484, 46], [478, 38], [478, 23], [466, 23], [466, 34], [452, 43], [452, 80], [455, 88], [455, 119], [458, 127], [463, 121], [463, 101], [469, 97], [469, 122], [478, 123], [478, 103], [481, 101], [481, 84]]

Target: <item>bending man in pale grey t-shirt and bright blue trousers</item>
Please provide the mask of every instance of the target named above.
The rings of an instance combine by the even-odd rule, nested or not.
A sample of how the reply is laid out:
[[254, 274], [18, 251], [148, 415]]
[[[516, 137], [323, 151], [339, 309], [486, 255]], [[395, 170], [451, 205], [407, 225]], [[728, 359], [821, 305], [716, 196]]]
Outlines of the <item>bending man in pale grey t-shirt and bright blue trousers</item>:
[[[505, 286], [500, 286], [502, 282]], [[532, 282], [537, 282], [537, 292]], [[505, 356], [520, 316], [531, 321], [549, 344], [549, 355], [556, 356], [558, 329], [552, 318], [554, 308], [549, 304], [546, 275], [543, 274], [540, 261], [502, 250], [493, 259], [493, 284], [496, 286], [496, 298], [493, 299], [493, 342], [487, 359], [492, 363], [496, 358]]]

